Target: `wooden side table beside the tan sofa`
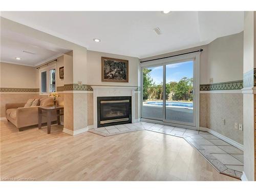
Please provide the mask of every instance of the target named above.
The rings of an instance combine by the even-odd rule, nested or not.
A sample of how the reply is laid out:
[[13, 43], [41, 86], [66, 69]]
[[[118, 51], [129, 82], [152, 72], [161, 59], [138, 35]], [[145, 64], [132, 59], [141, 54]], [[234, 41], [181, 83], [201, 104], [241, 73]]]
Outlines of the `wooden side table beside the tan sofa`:
[[60, 124], [60, 110], [64, 110], [63, 106], [39, 106], [38, 107], [38, 129], [41, 129], [42, 126], [42, 111], [47, 112], [47, 134], [51, 133], [51, 116], [52, 116], [52, 111], [56, 111], [57, 114], [57, 122]]

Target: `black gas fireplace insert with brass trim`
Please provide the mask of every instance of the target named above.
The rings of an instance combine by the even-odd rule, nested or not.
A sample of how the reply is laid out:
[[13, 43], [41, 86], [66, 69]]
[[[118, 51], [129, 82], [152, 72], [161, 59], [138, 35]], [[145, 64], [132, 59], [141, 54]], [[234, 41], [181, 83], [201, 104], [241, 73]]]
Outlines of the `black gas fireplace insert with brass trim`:
[[132, 97], [97, 97], [97, 125], [110, 126], [132, 122]]

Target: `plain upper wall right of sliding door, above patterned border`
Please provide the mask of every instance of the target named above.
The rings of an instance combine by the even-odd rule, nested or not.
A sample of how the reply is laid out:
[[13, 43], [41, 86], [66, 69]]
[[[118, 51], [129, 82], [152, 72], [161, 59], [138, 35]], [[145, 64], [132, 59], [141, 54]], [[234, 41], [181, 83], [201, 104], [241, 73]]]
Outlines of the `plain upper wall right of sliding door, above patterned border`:
[[214, 83], [242, 80], [243, 32], [212, 41], [208, 45], [207, 65], [208, 78], [202, 83], [208, 83], [209, 78], [213, 78]]

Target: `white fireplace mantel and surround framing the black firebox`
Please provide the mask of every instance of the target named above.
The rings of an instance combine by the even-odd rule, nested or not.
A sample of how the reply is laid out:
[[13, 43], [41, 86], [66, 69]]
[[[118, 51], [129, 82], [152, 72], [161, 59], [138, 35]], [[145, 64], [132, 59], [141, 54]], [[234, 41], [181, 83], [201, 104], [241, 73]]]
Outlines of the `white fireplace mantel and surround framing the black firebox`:
[[130, 86], [92, 86], [93, 88], [93, 127], [97, 128], [97, 97], [132, 97], [132, 123], [135, 120], [135, 90], [137, 87]]

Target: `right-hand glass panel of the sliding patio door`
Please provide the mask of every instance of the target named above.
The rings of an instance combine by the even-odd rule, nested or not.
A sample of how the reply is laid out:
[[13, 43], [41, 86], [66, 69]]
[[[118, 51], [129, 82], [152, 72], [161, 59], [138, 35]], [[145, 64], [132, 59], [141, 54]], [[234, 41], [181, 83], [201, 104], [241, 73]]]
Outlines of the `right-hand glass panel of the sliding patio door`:
[[193, 68], [193, 61], [166, 65], [164, 121], [194, 125]]

